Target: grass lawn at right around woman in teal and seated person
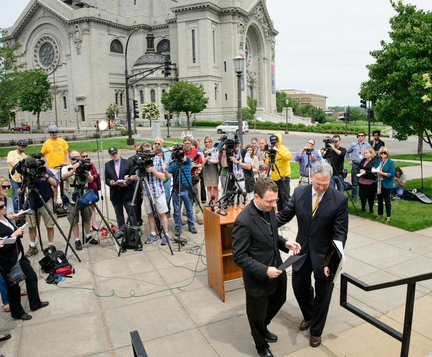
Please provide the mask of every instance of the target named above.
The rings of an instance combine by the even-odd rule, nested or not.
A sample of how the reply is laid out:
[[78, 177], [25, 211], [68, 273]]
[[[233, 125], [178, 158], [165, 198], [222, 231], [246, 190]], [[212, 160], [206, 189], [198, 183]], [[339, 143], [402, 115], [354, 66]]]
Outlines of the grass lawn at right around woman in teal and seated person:
[[[423, 179], [422, 192], [425, 194], [432, 194], [431, 189], [432, 177], [426, 177]], [[421, 179], [407, 181], [406, 188], [420, 188], [422, 186]], [[376, 202], [375, 202], [376, 203]], [[362, 205], [360, 201], [355, 204], [359, 214], [359, 217], [367, 218], [369, 220], [375, 220], [377, 217], [378, 207], [375, 206], [374, 214], [369, 214], [368, 211], [361, 212]], [[349, 214], [357, 215], [353, 208], [353, 204], [348, 201]], [[366, 204], [366, 210], [367, 204]], [[386, 219], [385, 207], [384, 215], [377, 222], [384, 223]], [[431, 215], [431, 205], [422, 203], [420, 201], [405, 201], [396, 200], [391, 201], [391, 220], [388, 223], [390, 226], [405, 229], [410, 232], [414, 232], [420, 229], [425, 229], [432, 226], [432, 215]]]

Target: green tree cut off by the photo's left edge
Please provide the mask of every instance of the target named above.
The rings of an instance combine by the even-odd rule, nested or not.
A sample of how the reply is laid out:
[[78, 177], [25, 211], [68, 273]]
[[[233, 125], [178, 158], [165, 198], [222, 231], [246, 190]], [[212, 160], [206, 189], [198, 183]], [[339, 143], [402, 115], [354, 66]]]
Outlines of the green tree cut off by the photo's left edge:
[[[7, 35], [7, 32], [0, 29], [0, 36]], [[16, 51], [21, 48], [17, 42], [14, 46], [8, 45], [4, 40], [0, 39], [0, 125], [8, 124], [10, 129], [10, 121], [13, 120], [13, 110], [18, 105], [19, 99], [19, 68], [22, 64], [18, 64], [18, 58], [24, 56], [16, 54]]]

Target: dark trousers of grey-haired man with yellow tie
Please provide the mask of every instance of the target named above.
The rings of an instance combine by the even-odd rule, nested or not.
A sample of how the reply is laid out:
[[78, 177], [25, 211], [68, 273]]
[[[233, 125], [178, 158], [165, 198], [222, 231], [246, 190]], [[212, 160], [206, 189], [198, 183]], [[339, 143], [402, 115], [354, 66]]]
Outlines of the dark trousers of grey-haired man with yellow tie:
[[305, 321], [312, 320], [311, 335], [318, 337], [321, 336], [324, 329], [334, 285], [330, 284], [327, 278], [319, 279], [315, 277], [314, 296], [311, 283], [312, 271], [311, 257], [308, 254], [302, 268], [298, 271], [292, 271], [292, 289], [300, 310], [302, 310], [303, 319]]

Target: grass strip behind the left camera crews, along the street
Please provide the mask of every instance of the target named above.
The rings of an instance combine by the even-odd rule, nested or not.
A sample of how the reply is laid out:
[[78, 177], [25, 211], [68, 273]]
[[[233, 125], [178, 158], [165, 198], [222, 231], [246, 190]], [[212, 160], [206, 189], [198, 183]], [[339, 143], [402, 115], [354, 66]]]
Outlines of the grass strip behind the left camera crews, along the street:
[[[102, 145], [104, 147], [104, 150], [107, 150], [108, 147], [111, 146], [115, 146], [118, 149], [127, 149], [127, 150], [133, 150], [133, 146], [127, 146], [126, 144], [126, 138], [118, 138], [118, 139], [103, 139], [102, 140]], [[147, 140], [147, 139], [146, 139]], [[183, 139], [179, 139], [179, 138], [164, 138], [164, 141], [168, 140], [168, 142], [164, 143], [164, 147], [170, 147], [172, 146], [172, 143], [182, 143]], [[135, 142], [138, 142], [139, 140], [135, 139]], [[150, 143], [154, 143], [154, 140], [147, 140]], [[73, 141], [69, 144], [69, 150], [81, 150], [81, 149], [86, 149], [89, 153], [95, 153], [96, 151], [98, 151], [98, 149], [101, 149], [101, 142], [100, 140], [89, 140], [89, 141]], [[25, 151], [25, 153], [29, 156], [31, 155], [33, 152], [38, 152], [40, 153], [42, 149], [42, 145], [35, 145], [35, 149], [33, 149], [33, 145], [29, 145], [27, 150]], [[10, 147], [3, 147], [0, 148], [0, 157], [6, 158], [7, 157], [7, 153], [9, 153], [11, 150]]]

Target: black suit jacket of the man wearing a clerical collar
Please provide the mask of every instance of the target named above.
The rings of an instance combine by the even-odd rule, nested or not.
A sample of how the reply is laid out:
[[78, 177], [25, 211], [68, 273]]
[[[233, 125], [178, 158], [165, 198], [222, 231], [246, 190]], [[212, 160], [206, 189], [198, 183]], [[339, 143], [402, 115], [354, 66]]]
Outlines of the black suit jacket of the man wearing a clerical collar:
[[[286, 239], [279, 236], [274, 210], [270, 210], [273, 239], [259, 211], [251, 201], [237, 216], [232, 229], [232, 258], [243, 271], [245, 290], [251, 296], [267, 296], [276, 290], [276, 279], [267, 276], [268, 267], [282, 264], [279, 249], [285, 248]], [[266, 218], [267, 219], [267, 218]], [[286, 274], [280, 274], [286, 284]]]

